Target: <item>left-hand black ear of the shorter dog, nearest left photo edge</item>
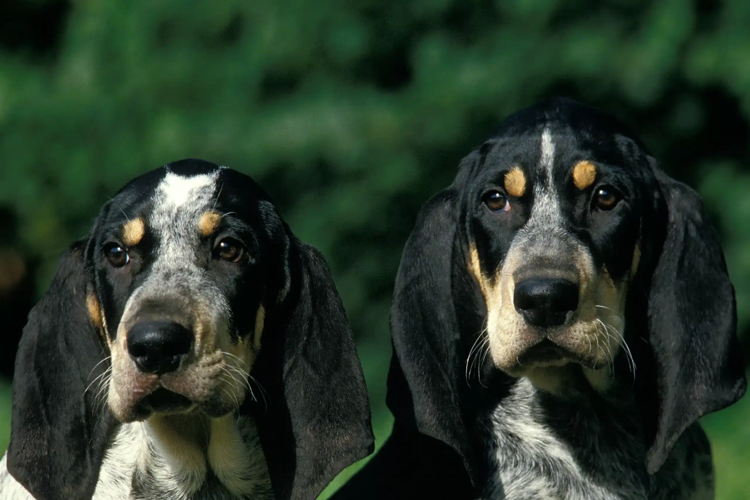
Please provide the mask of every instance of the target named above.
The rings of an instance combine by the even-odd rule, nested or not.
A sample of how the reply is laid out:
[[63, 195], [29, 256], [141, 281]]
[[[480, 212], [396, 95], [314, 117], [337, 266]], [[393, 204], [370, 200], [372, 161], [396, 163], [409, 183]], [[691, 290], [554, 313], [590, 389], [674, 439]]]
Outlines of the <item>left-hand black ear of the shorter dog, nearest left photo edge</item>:
[[92, 497], [112, 426], [87, 390], [108, 363], [86, 308], [85, 245], [60, 258], [16, 357], [7, 468], [39, 500]]

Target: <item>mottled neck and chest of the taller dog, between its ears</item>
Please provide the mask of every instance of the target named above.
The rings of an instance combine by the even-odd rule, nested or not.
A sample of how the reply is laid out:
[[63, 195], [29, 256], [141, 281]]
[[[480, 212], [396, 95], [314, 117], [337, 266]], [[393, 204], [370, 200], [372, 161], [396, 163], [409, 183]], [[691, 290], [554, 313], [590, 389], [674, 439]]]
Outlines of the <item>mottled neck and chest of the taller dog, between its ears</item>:
[[[551, 374], [544, 375], [548, 385]], [[583, 374], [583, 381], [565, 375], [554, 392], [518, 378], [484, 417], [493, 471], [481, 498], [646, 498], [636, 408], [584, 387]]]

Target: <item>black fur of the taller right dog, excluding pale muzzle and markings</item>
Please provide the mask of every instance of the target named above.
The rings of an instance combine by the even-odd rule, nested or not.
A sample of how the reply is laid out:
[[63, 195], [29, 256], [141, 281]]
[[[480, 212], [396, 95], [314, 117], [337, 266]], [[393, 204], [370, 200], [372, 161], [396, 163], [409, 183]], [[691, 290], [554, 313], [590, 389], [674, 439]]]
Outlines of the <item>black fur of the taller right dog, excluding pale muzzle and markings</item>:
[[[519, 385], [520, 379], [500, 372], [490, 360], [479, 361], [478, 376], [469, 373], [469, 354], [485, 326], [487, 308], [467, 263], [473, 243], [481, 270], [490, 274], [502, 264], [514, 234], [524, 227], [535, 191], [513, 198], [514, 211], [502, 224], [496, 222], [496, 215], [484, 216], [478, 197], [487, 188], [502, 189], [502, 176], [511, 165], [541, 161], [538, 137], [547, 126], [559, 140], [552, 175], [565, 193], [559, 203], [568, 217], [566, 230], [589, 249], [597, 267], [610, 270], [615, 281], [628, 276], [634, 248], [640, 250], [625, 304], [625, 336], [637, 375], [630, 381], [620, 376], [625, 389], [618, 393], [620, 399], [606, 404], [605, 399], [598, 402], [598, 394], [575, 396], [589, 398], [582, 407], [604, 404], [603, 408], [610, 408], [607, 411], [632, 400], [626, 405], [628, 417], [613, 424], [631, 429], [625, 435], [632, 438], [619, 443], [623, 456], [640, 458], [625, 459], [624, 465], [607, 463], [610, 455], [597, 451], [599, 444], [606, 447], [604, 436], [589, 447], [576, 434], [607, 432], [603, 427], [586, 424], [571, 429], [565, 422], [556, 423], [553, 415], [565, 414], [574, 399], [542, 393], [532, 396], [541, 401], [535, 408], [549, 412], [545, 421], [553, 435], [577, 447], [574, 454], [583, 453], [579, 465], [584, 471], [589, 463], [588, 472], [595, 476], [602, 466], [604, 474], [611, 476], [602, 480], [619, 483], [621, 496], [616, 498], [682, 498], [697, 487], [688, 480], [690, 467], [704, 472], [706, 465], [695, 453], [709, 451], [695, 422], [736, 402], [746, 386], [736, 339], [734, 292], [718, 237], [697, 194], [661, 172], [625, 125], [574, 101], [555, 99], [506, 119], [493, 137], [463, 158], [453, 184], [428, 200], [419, 213], [404, 248], [392, 308], [394, 356], [388, 404], [395, 429], [378, 455], [336, 498], [536, 498], [533, 492], [525, 496], [530, 490], [505, 491], [496, 479], [495, 456], [508, 457], [500, 468], [514, 467], [511, 456], [521, 462], [533, 456], [523, 448], [523, 435], [518, 442], [502, 435], [508, 427], [498, 419], [508, 417], [507, 425], [512, 427], [513, 410], [532, 403], [519, 396], [526, 388]], [[594, 212], [588, 215], [591, 188], [571, 186], [565, 191], [563, 187], [571, 181], [570, 170], [562, 166], [591, 158], [599, 166], [594, 186], [606, 181], [627, 199], [607, 218]], [[621, 352], [613, 360], [616, 372], [630, 375], [626, 361]], [[622, 414], [617, 411], [611, 414]], [[501, 432], [500, 437], [493, 432]], [[680, 435], [679, 456], [672, 457], [667, 467], [664, 462]], [[569, 489], [574, 485], [566, 485], [562, 471], [554, 470], [556, 462], [550, 463], [552, 469], [544, 474], [559, 481], [555, 485], [559, 491], [575, 495]], [[618, 471], [617, 465], [625, 469]], [[655, 475], [662, 465], [668, 470]], [[535, 466], [542, 467], [541, 462], [529, 464]], [[542, 470], [538, 468], [538, 477]], [[405, 485], [401, 482], [405, 477], [413, 481]], [[536, 476], [529, 477], [530, 484]], [[634, 496], [628, 496], [628, 487]]]

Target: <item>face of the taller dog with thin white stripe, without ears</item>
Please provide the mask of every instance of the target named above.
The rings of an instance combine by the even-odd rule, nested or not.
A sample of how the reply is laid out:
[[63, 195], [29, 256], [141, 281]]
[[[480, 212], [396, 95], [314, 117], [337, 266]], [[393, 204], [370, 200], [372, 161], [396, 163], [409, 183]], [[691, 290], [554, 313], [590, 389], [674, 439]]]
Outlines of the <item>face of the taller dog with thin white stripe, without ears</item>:
[[481, 148], [467, 189], [468, 267], [494, 364], [513, 376], [625, 344], [646, 183], [606, 131], [538, 120]]

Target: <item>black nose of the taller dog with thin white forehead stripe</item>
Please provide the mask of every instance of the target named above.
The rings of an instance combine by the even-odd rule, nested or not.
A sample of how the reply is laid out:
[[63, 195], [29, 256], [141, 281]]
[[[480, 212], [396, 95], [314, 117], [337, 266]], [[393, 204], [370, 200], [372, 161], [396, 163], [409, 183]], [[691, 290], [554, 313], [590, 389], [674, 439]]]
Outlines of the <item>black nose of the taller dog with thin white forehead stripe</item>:
[[567, 279], [524, 279], [516, 285], [513, 305], [527, 323], [554, 327], [578, 307], [578, 285]]

